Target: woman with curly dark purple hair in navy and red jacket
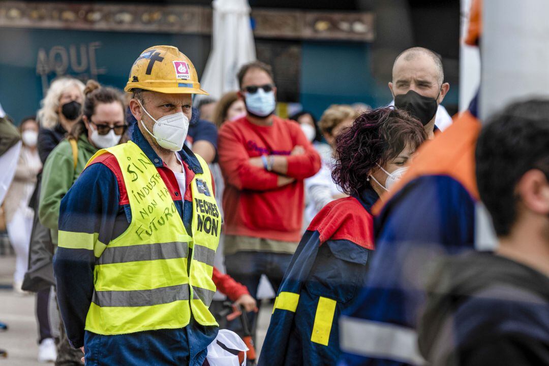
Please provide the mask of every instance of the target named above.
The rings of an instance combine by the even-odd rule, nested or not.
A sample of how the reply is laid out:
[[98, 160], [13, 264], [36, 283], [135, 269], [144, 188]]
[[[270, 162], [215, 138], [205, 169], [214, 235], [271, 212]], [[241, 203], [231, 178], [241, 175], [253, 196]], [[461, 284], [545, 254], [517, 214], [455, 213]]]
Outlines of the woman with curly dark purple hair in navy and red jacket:
[[363, 113], [337, 140], [333, 180], [350, 197], [330, 202], [301, 238], [275, 301], [259, 365], [333, 365], [338, 319], [362, 287], [374, 249], [372, 205], [427, 139], [404, 111]]

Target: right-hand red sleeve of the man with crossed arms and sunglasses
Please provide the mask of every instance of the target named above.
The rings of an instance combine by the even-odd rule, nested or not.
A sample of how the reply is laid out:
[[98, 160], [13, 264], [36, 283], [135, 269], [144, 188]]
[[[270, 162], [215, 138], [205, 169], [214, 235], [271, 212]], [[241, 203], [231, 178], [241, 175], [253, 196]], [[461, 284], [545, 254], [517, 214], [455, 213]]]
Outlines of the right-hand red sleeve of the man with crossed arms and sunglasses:
[[311, 145], [311, 142], [307, 140], [301, 128], [299, 128], [299, 124], [292, 122], [289, 125], [295, 141], [294, 146], [303, 146], [305, 153], [303, 155], [288, 156], [288, 171], [286, 175], [298, 180], [309, 178], [320, 170], [320, 156]]

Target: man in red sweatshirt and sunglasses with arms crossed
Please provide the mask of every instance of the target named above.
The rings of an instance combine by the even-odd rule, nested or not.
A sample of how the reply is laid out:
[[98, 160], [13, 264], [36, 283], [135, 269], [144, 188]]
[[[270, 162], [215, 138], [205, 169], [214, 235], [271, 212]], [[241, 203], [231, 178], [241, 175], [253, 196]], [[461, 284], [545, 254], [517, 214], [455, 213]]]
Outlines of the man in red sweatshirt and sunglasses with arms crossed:
[[[320, 169], [320, 157], [299, 124], [275, 116], [271, 66], [255, 61], [238, 72], [247, 115], [219, 131], [225, 178], [225, 265], [256, 298], [261, 274], [278, 291], [301, 238], [303, 180]], [[255, 333], [255, 314], [250, 313]]]

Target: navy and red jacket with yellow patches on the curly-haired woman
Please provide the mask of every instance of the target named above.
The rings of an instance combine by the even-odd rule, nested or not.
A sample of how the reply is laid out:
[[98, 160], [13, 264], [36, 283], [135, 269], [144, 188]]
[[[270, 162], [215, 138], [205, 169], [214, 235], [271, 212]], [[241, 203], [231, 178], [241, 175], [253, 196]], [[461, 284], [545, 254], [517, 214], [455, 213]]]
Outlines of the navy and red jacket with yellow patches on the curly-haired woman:
[[338, 319], [365, 281], [377, 193], [327, 204], [301, 238], [284, 275], [259, 365], [333, 365]]

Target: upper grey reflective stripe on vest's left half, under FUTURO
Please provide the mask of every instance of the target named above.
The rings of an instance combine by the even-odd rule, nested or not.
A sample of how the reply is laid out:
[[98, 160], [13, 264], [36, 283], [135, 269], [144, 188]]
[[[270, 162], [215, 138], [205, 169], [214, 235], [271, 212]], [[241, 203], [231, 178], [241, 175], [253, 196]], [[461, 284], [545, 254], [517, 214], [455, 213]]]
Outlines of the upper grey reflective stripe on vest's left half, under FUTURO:
[[107, 245], [97, 264], [187, 258], [188, 253], [189, 245], [181, 242], [127, 245], [126, 247]]

